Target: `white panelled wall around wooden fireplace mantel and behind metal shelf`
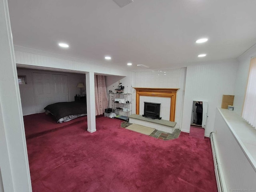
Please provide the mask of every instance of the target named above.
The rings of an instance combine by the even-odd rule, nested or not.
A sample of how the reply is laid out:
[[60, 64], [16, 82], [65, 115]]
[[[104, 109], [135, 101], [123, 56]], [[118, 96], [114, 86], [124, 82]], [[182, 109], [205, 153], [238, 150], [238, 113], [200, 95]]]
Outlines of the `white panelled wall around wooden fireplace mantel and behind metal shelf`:
[[[106, 87], [108, 90], [114, 91], [118, 86], [118, 82], [122, 82], [124, 92], [132, 92], [132, 112], [136, 113], [136, 90], [132, 87], [144, 88], [180, 88], [176, 98], [176, 128], [180, 128], [182, 118], [184, 83], [186, 79], [186, 68], [168, 69], [168, 70], [150, 70], [131, 72], [127, 77], [122, 76], [106, 76]], [[111, 105], [110, 105], [111, 108]], [[126, 115], [120, 111], [120, 115]], [[170, 118], [170, 117], [169, 117]], [[169, 119], [168, 119], [169, 120]]]

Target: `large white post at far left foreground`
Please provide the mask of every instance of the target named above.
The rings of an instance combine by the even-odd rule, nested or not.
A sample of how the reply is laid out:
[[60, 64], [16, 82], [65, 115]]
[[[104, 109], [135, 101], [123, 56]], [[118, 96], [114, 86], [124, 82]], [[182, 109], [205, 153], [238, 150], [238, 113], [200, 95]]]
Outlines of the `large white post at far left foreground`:
[[32, 192], [7, 0], [0, 0], [0, 191]]

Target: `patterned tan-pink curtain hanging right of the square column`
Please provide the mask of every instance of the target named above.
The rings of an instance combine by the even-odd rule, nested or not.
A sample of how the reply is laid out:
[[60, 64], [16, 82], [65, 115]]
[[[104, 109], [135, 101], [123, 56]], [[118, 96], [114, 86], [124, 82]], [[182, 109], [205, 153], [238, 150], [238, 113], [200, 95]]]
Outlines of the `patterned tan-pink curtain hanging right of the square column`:
[[102, 75], [94, 76], [95, 84], [95, 113], [102, 115], [108, 107], [108, 96], [106, 91], [105, 77]]

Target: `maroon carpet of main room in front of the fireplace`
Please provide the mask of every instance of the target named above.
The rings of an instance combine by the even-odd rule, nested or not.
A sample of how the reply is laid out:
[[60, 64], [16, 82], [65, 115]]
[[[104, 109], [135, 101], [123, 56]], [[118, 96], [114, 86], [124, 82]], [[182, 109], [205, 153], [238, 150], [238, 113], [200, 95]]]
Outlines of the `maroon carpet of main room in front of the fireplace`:
[[33, 192], [217, 192], [209, 138], [163, 141], [96, 118], [27, 140]]

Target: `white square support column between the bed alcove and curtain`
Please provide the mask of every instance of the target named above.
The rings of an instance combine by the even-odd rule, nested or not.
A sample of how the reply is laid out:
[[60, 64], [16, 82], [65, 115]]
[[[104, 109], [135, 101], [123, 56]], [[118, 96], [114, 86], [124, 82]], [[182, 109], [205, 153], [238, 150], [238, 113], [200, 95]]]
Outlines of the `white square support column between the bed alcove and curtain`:
[[86, 102], [87, 102], [87, 131], [96, 131], [95, 118], [95, 88], [94, 88], [94, 72], [87, 72], [86, 79]]

